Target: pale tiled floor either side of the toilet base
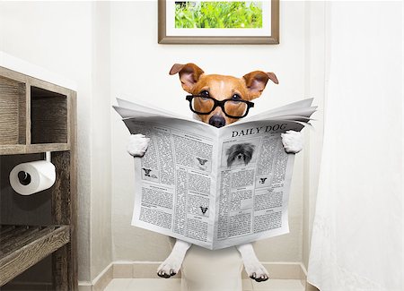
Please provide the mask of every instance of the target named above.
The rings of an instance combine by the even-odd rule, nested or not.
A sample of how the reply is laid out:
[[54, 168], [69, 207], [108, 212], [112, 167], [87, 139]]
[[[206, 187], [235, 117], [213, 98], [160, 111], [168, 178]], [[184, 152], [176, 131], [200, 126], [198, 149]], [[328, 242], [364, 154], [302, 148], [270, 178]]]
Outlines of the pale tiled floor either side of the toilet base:
[[[242, 280], [243, 291], [304, 291], [300, 280]], [[105, 291], [180, 291], [180, 278], [114, 278]]]

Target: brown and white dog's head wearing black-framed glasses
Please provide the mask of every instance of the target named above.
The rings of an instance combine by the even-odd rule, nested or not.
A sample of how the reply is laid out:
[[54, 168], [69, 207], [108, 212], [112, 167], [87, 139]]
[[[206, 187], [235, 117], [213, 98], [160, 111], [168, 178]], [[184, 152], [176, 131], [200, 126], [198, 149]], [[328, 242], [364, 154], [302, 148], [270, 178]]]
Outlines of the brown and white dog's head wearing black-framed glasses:
[[[264, 73], [262, 71], [254, 71], [247, 73], [242, 78], [233, 76], [225, 76], [219, 74], [205, 74], [204, 71], [196, 64], [174, 64], [170, 74], [179, 73], [182, 89], [189, 92], [191, 95], [198, 95], [203, 98], [198, 98], [193, 106], [198, 112], [208, 112], [211, 107], [212, 99], [223, 101], [224, 99], [232, 99], [234, 105], [230, 104], [225, 111], [230, 116], [242, 116], [242, 111], [245, 110], [236, 104], [237, 100], [250, 101], [254, 98], [259, 98], [262, 91], [265, 89], [268, 80], [278, 83], [275, 73]], [[245, 104], [243, 104], [245, 105]], [[237, 121], [237, 118], [226, 116], [222, 107], [215, 107], [215, 110], [206, 115], [198, 114], [201, 121], [206, 124], [222, 127], [226, 124], [232, 124]]]

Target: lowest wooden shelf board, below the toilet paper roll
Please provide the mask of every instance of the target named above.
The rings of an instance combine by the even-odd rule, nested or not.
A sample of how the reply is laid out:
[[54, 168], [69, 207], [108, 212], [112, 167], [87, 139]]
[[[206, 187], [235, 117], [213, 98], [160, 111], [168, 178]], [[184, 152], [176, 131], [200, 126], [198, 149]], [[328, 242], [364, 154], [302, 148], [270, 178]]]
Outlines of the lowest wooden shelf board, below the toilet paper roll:
[[0, 226], [0, 286], [70, 241], [68, 226]]

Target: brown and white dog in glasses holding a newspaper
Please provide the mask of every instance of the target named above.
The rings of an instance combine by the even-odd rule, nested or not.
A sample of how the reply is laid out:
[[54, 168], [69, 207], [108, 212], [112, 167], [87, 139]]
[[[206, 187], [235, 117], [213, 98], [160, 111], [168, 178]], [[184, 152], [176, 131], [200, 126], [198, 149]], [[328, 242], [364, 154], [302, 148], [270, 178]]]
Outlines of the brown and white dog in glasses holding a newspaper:
[[[245, 74], [242, 78], [236, 78], [220, 74], [206, 74], [197, 64], [192, 63], [174, 64], [170, 74], [177, 73], [180, 76], [182, 89], [189, 92], [191, 96], [200, 97], [198, 102], [192, 98], [193, 104], [189, 98], [189, 106], [195, 114], [194, 117], [218, 128], [236, 122], [239, 119], [237, 117], [245, 114], [246, 107], [241, 108], [235, 105], [241, 103], [248, 105], [250, 100], [259, 98], [269, 80], [278, 83], [275, 73], [253, 71]], [[211, 101], [214, 99], [222, 102], [220, 106], [212, 108]], [[224, 100], [229, 100], [225, 102], [230, 103], [230, 106], [225, 107]], [[226, 109], [224, 110], [224, 108]], [[127, 151], [132, 156], [142, 157], [147, 149], [148, 141], [145, 135], [132, 134], [127, 145]], [[294, 131], [282, 133], [282, 142], [288, 153], [297, 153], [303, 150], [301, 133]], [[252, 144], [248, 144], [247, 147], [250, 147], [250, 150], [254, 149]], [[250, 158], [240, 159], [243, 160], [244, 165], [250, 162]], [[233, 162], [230, 164], [232, 165]], [[190, 246], [190, 243], [177, 239], [170, 255], [157, 269], [157, 275], [162, 278], [170, 278], [177, 274]], [[258, 282], [268, 280], [268, 271], [259, 262], [252, 244], [240, 244], [236, 248], [242, 255], [244, 269], [250, 278]]]

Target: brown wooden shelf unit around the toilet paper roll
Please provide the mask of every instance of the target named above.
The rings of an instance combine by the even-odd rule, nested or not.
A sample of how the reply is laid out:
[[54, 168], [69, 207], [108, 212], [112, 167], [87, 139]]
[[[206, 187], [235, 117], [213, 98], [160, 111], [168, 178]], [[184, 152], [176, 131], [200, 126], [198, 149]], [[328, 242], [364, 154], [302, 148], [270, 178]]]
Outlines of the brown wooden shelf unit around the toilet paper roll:
[[[57, 172], [55, 184], [42, 196], [50, 200], [50, 223], [32, 226], [38, 213], [26, 209], [23, 221], [12, 221], [12, 214], [0, 216], [0, 287], [51, 254], [53, 289], [78, 289], [75, 148], [75, 91], [0, 66], [0, 165], [2, 160], [7, 164], [0, 170], [51, 151]], [[4, 201], [13, 204], [13, 195], [19, 194], [4, 180], [0, 199], [8, 195]]]

